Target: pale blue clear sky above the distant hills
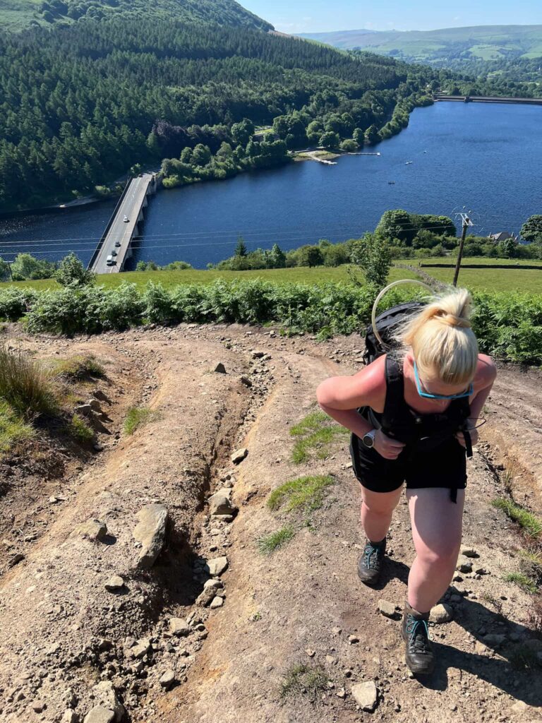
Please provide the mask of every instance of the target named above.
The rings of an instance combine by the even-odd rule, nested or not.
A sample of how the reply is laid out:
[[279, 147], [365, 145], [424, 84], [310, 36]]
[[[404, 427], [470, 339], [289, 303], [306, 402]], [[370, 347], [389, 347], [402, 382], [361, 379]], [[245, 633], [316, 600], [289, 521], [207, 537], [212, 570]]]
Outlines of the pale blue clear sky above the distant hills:
[[239, 0], [283, 33], [436, 30], [465, 25], [542, 25], [542, 0]]

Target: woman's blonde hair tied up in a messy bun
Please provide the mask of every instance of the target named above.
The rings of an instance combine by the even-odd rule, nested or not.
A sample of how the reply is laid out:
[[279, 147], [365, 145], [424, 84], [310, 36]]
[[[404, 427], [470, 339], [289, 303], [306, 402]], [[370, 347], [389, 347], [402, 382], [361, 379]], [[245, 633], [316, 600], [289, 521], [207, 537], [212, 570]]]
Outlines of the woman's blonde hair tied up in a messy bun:
[[405, 322], [397, 334], [410, 347], [421, 377], [468, 384], [478, 364], [478, 341], [470, 328], [472, 299], [465, 288], [438, 296]]

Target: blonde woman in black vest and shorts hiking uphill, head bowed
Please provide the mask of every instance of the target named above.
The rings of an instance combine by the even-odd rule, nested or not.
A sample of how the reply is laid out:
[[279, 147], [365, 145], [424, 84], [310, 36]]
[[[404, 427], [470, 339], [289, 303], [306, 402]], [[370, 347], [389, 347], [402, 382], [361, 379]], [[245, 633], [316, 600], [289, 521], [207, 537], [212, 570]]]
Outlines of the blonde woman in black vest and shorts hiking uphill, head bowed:
[[379, 356], [356, 375], [332, 377], [317, 390], [322, 409], [352, 432], [367, 537], [358, 575], [366, 584], [379, 580], [387, 531], [406, 482], [416, 558], [402, 633], [406, 662], [418, 674], [434, 667], [427, 621], [457, 564], [465, 446], [478, 440], [476, 422], [496, 376], [491, 358], [478, 354], [469, 312], [463, 289], [436, 299], [403, 325], [400, 354]]

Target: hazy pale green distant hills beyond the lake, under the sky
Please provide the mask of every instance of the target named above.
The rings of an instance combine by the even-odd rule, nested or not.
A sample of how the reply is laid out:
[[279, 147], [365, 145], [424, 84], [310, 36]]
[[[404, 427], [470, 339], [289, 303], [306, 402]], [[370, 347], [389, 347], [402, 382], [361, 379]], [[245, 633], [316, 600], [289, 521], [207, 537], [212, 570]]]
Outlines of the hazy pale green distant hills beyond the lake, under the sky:
[[[303, 33], [337, 48], [360, 48], [406, 61], [450, 65], [457, 61], [542, 56], [542, 25], [479, 25], [443, 30], [342, 30]], [[453, 63], [452, 63], [453, 61]]]

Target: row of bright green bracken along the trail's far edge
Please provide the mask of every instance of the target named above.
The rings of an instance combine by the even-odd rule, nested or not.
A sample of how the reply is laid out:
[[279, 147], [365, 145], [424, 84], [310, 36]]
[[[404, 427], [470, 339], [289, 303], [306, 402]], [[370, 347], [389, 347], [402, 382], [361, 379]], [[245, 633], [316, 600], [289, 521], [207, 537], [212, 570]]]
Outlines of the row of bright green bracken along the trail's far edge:
[[[416, 293], [412, 288], [394, 289], [384, 304], [390, 307]], [[290, 333], [330, 338], [364, 330], [375, 294], [373, 287], [355, 283], [279, 286], [259, 279], [173, 288], [150, 282], [142, 294], [132, 283], [111, 290], [7, 287], [0, 290], [0, 318], [22, 319], [32, 333], [100, 333], [150, 322], [274, 322]], [[473, 298], [473, 328], [481, 351], [522, 364], [542, 364], [542, 295], [475, 292]]]

